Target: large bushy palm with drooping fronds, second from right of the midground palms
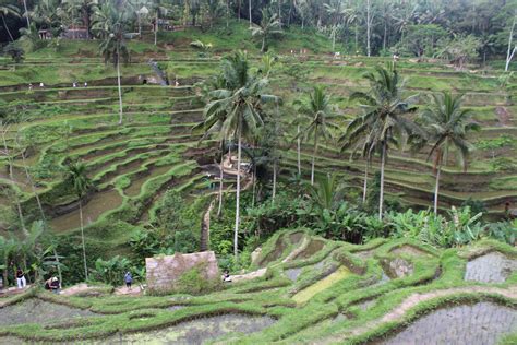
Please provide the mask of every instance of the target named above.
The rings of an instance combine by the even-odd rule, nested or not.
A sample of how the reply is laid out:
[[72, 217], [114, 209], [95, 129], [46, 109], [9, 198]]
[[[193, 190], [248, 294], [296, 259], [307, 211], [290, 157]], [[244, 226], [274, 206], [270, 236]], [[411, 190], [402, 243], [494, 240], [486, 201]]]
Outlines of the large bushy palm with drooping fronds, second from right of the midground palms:
[[390, 145], [398, 145], [406, 135], [421, 133], [418, 126], [407, 119], [414, 96], [404, 97], [404, 85], [395, 66], [385, 69], [376, 67], [375, 72], [369, 72], [364, 78], [370, 82], [368, 93], [356, 92], [350, 99], [359, 99], [364, 112], [351, 121], [340, 142], [341, 150], [347, 150], [364, 141], [363, 156], [371, 159], [375, 152], [381, 154], [381, 195], [378, 198], [378, 217], [383, 217], [384, 204], [384, 166]]

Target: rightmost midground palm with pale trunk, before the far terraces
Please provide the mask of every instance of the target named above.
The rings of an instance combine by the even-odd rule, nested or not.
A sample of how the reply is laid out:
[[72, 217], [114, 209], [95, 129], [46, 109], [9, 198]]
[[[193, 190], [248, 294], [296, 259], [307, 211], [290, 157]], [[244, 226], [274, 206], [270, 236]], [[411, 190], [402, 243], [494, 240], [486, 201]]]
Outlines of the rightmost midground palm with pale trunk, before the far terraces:
[[[432, 96], [432, 104], [421, 115], [428, 142], [432, 148], [428, 159], [434, 154], [433, 169], [436, 175], [434, 188], [434, 213], [438, 209], [440, 174], [442, 166], [447, 164], [450, 152], [457, 162], [467, 170], [467, 158], [472, 145], [467, 141], [467, 133], [479, 130], [478, 123], [469, 122], [472, 111], [461, 108], [462, 95], [454, 96], [443, 92]], [[452, 151], [454, 148], [454, 151]]]

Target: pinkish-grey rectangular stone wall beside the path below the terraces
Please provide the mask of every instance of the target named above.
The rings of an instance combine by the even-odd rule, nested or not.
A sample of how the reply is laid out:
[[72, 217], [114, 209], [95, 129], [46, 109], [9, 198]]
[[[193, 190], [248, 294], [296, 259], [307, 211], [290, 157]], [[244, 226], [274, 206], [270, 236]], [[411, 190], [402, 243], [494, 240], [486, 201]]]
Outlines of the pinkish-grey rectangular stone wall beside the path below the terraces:
[[175, 283], [181, 275], [194, 267], [199, 267], [202, 277], [207, 281], [220, 279], [217, 260], [213, 251], [146, 258], [145, 267], [147, 286], [149, 290], [154, 292], [172, 290]]

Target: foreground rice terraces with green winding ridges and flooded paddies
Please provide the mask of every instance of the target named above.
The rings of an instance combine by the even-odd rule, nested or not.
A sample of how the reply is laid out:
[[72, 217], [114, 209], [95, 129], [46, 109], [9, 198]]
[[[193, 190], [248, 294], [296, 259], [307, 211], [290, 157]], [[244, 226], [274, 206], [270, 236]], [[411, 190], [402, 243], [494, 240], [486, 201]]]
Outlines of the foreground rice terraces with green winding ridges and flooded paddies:
[[123, 297], [91, 286], [0, 297], [0, 343], [515, 344], [517, 336], [517, 251], [501, 242], [354, 246], [297, 229], [257, 249], [251, 270], [197, 296]]

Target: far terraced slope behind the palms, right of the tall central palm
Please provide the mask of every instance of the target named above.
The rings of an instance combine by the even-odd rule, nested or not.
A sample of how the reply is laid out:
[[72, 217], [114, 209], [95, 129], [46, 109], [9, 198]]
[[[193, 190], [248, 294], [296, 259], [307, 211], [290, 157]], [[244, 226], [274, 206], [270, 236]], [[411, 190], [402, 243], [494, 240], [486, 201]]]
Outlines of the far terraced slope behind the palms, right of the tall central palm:
[[[286, 71], [293, 59], [285, 62]], [[323, 84], [335, 96], [339, 105], [339, 112], [344, 115], [341, 124], [345, 127], [350, 119], [361, 110], [356, 104], [350, 104], [348, 96], [356, 91], [366, 91], [368, 83], [362, 75], [375, 64], [385, 63], [383, 59], [347, 58], [342, 61], [329, 58], [309, 58], [301, 63], [309, 74], [308, 83], [297, 83], [282, 75], [278, 80], [285, 97], [294, 100], [300, 97], [300, 85], [303, 91], [309, 91], [313, 84]], [[512, 96], [515, 93], [515, 80], [509, 87], [500, 87], [498, 72], [455, 71], [445, 64], [416, 63], [401, 61], [398, 69], [406, 79], [408, 95], [418, 95], [417, 104], [423, 108], [428, 97], [433, 93], [452, 91], [464, 95], [464, 106], [473, 111], [473, 119], [481, 124], [480, 133], [471, 135], [471, 141], [477, 148], [469, 159], [467, 172], [464, 172], [449, 157], [444, 169], [441, 183], [441, 207], [449, 209], [459, 205], [465, 200], [472, 198], [481, 200], [494, 215], [501, 215], [504, 204], [517, 202], [516, 194], [516, 107]], [[338, 133], [336, 133], [338, 134]], [[338, 146], [324, 143], [321, 156], [316, 159], [320, 171], [337, 170], [345, 178], [351, 179], [356, 186], [362, 186], [364, 178], [364, 162], [357, 159], [350, 162], [349, 153], [339, 154]], [[313, 145], [303, 145], [302, 164], [308, 170]], [[429, 150], [418, 154], [410, 154], [406, 147], [404, 152], [393, 151], [386, 172], [387, 188], [392, 195], [397, 195], [408, 205], [426, 207], [433, 200], [434, 176], [432, 162], [428, 162]], [[286, 155], [286, 164], [294, 167], [297, 156], [294, 152]], [[378, 166], [374, 160], [374, 168]], [[374, 172], [372, 172], [374, 174]], [[372, 175], [370, 175], [372, 177]]]

